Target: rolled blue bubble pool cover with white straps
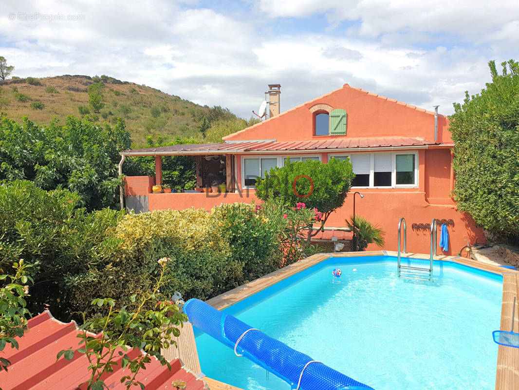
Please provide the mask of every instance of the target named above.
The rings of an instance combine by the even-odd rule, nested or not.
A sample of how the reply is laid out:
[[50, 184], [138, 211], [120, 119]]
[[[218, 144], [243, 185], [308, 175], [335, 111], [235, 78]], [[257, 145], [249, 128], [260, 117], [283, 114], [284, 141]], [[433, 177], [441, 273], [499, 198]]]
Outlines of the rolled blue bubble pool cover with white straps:
[[197, 299], [187, 301], [184, 313], [195, 327], [230, 348], [234, 349], [241, 337], [236, 353], [279, 376], [293, 389], [297, 387], [304, 369], [300, 390], [373, 390], [372, 387], [357, 382], [321, 362], [309, 363], [313, 360], [310, 356], [272, 339], [259, 330], [252, 329], [236, 317], [224, 314], [205, 302]]

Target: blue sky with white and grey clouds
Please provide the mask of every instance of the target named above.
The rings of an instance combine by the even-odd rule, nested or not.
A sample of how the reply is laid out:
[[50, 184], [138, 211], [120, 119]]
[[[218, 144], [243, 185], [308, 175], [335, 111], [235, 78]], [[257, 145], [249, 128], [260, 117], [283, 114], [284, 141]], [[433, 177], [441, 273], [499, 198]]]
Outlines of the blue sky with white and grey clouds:
[[519, 59], [519, 1], [0, 0], [13, 75], [107, 74], [249, 118], [267, 84], [281, 111], [344, 83], [453, 112]]

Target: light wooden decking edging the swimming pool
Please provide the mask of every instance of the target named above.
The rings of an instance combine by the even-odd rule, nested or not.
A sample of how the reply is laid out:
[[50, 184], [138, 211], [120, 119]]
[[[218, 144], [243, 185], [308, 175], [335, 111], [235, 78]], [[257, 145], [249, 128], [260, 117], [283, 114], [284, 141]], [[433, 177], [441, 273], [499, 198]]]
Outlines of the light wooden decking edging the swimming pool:
[[[226, 307], [234, 305], [245, 298], [260, 292], [272, 284], [275, 284], [283, 279], [289, 278], [292, 275], [301, 272], [304, 269], [312, 267], [330, 257], [358, 257], [358, 256], [380, 256], [389, 255], [397, 256], [397, 252], [392, 251], [370, 251], [370, 252], [337, 252], [316, 254], [307, 257], [297, 263], [291, 264], [284, 268], [278, 269], [271, 274], [262, 278], [253, 280], [247, 284], [241, 285], [236, 289], [230, 290], [224, 294], [218, 295], [207, 301], [208, 304], [218, 310], [223, 310]], [[420, 253], [405, 253], [402, 257], [414, 257], [420, 259], [429, 259], [430, 256]], [[514, 331], [519, 332], [519, 271], [502, 268], [492, 264], [477, 262], [475, 260], [457, 257], [457, 256], [434, 256], [434, 260], [453, 262], [462, 264], [468, 267], [481, 269], [493, 274], [502, 275], [503, 277], [503, 295], [501, 303], [501, 326], [500, 330], [510, 331], [512, 320], [512, 303], [514, 295], [517, 296], [517, 304], [515, 306], [515, 321]], [[489, 334], [490, 338], [492, 335]], [[206, 381], [207, 382], [207, 381]], [[214, 381], [217, 382], [217, 381]], [[221, 382], [218, 382], [221, 383]], [[209, 383], [208, 383], [209, 385]], [[225, 384], [223, 384], [225, 385]], [[211, 390], [236, 390], [236, 387], [211, 387]], [[228, 385], [227, 385], [228, 386]], [[467, 388], [471, 388], [468, 384]], [[498, 347], [497, 355], [497, 369], [496, 369], [496, 390], [516, 390], [519, 389], [519, 348], [512, 348], [500, 345]], [[240, 389], [238, 389], [240, 390]]]

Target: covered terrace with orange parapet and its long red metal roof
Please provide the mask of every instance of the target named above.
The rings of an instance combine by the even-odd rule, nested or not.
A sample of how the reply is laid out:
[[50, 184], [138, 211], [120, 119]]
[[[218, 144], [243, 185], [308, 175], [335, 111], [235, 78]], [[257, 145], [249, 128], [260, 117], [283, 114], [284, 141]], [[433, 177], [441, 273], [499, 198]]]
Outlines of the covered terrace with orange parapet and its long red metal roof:
[[[135, 212], [199, 207], [210, 210], [221, 203], [256, 200], [254, 182], [272, 166], [280, 166], [286, 157], [327, 162], [337, 153], [398, 151], [442, 148], [439, 142], [418, 137], [365, 137], [309, 141], [256, 140], [226, 141], [218, 144], [172, 145], [120, 152], [119, 173], [126, 157], [155, 158], [155, 176], [129, 176], [120, 190], [121, 209]], [[184, 193], [153, 193], [162, 184], [162, 159], [184, 155], [196, 161], [196, 188]], [[225, 192], [208, 192], [213, 183], [225, 184]], [[188, 192], [188, 193], [187, 193]]]

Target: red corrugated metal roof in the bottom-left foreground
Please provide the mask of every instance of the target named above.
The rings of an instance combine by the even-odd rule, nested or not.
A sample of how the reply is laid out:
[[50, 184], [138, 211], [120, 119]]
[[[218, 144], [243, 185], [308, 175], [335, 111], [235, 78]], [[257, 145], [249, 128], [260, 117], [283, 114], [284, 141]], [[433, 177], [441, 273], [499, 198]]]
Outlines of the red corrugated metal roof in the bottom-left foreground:
[[[86, 355], [75, 353], [72, 360], [56, 355], [63, 349], [78, 348], [80, 331], [74, 322], [63, 323], [54, 319], [48, 311], [29, 320], [29, 332], [17, 339], [19, 349], [6, 347], [0, 356], [10, 360], [8, 371], [0, 372], [0, 386], [4, 390], [76, 390], [78, 384], [89, 378], [88, 359]], [[142, 352], [134, 348], [127, 352], [130, 356], [138, 356]], [[202, 390], [204, 383], [196, 376], [182, 369], [179, 359], [167, 366], [152, 358], [146, 370], [139, 372], [136, 379], [146, 386], [146, 390], [168, 389], [171, 382], [186, 382], [187, 390]], [[128, 368], [114, 367], [115, 371], [104, 376], [105, 384], [112, 390], [123, 390], [122, 376], [129, 375]], [[83, 388], [84, 386], [81, 386]]]

